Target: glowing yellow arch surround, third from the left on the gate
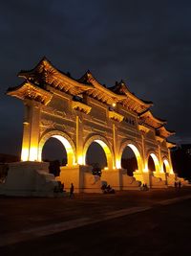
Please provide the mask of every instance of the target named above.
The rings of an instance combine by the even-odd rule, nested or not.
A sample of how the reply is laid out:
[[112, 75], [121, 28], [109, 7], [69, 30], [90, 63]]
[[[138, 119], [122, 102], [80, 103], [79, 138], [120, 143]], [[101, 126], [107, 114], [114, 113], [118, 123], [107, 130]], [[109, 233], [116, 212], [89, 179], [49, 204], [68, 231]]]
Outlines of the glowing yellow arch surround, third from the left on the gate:
[[140, 148], [138, 146], [138, 143], [132, 141], [132, 140], [127, 140], [125, 142], [122, 143], [122, 145], [120, 146], [120, 150], [118, 153], [118, 159], [117, 159], [117, 168], [121, 168], [121, 157], [122, 157], [122, 153], [125, 150], [126, 147], [129, 147], [136, 155], [136, 159], [138, 161], [138, 171], [142, 171], [143, 169], [143, 162], [142, 162], [142, 157], [140, 154]]

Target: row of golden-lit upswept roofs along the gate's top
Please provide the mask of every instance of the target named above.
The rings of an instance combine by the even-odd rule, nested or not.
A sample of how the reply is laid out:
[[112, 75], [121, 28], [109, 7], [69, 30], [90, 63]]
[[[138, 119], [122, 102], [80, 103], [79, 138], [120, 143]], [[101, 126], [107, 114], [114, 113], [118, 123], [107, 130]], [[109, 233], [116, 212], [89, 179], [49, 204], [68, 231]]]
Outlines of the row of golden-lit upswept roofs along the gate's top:
[[42, 58], [32, 70], [19, 72], [18, 76], [25, 78], [45, 91], [51, 86], [58, 91], [73, 96], [86, 94], [105, 105], [123, 105], [128, 111], [139, 115], [140, 125], [145, 124], [153, 128], [159, 128], [164, 124], [151, 113], [149, 115], [148, 113], [145, 114], [150, 112], [148, 109], [153, 103], [139, 99], [129, 91], [124, 81], [117, 82], [114, 87], [107, 88], [96, 81], [90, 71], [86, 72], [81, 79], [76, 80], [69, 73], [63, 73], [55, 68], [47, 58]]

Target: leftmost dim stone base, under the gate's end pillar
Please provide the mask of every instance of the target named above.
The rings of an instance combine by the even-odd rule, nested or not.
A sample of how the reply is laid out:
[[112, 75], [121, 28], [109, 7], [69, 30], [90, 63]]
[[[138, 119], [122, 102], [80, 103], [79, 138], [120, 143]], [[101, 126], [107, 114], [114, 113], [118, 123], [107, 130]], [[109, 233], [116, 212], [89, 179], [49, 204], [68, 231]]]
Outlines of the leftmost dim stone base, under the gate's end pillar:
[[53, 197], [57, 181], [49, 174], [49, 163], [15, 162], [9, 164], [9, 172], [0, 194], [18, 197]]

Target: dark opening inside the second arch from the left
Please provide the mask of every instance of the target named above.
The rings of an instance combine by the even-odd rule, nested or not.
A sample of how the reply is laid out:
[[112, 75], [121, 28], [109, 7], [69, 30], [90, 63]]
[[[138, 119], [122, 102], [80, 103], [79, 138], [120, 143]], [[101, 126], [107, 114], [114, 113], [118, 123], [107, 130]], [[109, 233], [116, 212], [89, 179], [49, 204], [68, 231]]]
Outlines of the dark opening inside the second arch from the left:
[[88, 148], [86, 164], [93, 167], [93, 175], [101, 175], [101, 170], [107, 167], [106, 154], [97, 142], [93, 142]]

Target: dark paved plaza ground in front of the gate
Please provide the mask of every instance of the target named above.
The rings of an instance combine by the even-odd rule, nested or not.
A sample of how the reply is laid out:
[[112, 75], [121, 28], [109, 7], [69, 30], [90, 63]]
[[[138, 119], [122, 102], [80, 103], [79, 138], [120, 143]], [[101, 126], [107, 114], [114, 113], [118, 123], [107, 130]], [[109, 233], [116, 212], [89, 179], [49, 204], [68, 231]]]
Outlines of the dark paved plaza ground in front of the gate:
[[190, 254], [191, 187], [0, 198], [0, 255]]

